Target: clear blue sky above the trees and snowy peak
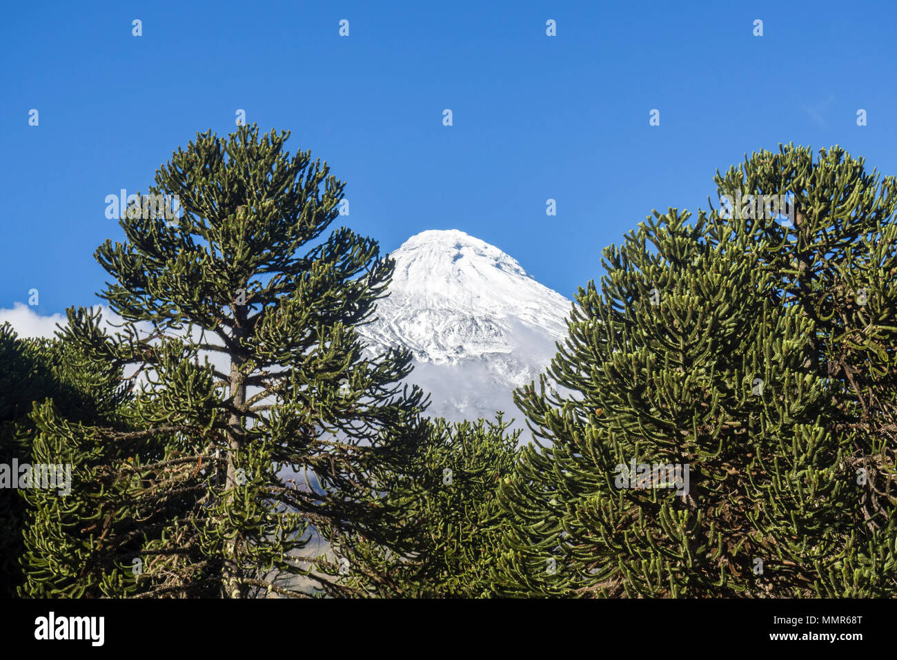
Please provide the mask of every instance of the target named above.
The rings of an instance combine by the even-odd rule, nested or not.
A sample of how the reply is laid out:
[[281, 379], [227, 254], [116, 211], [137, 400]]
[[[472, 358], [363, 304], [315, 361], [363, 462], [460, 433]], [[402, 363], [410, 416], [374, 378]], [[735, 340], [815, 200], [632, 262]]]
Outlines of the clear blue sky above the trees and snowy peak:
[[123, 238], [106, 196], [238, 109], [327, 161], [346, 224], [384, 251], [457, 228], [571, 297], [605, 245], [653, 208], [707, 207], [745, 152], [838, 144], [897, 174], [895, 19], [897, 2], [16, 3], [0, 308], [31, 288], [41, 314], [99, 304], [92, 252]]

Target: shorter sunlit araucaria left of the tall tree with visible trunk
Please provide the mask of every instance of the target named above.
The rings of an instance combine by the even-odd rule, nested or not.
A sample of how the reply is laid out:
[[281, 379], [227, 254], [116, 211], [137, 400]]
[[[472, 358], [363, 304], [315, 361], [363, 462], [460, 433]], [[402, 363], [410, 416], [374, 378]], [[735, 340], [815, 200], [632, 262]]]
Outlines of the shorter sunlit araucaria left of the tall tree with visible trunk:
[[[95, 335], [96, 319], [73, 319]], [[161, 456], [161, 435], [132, 429], [128, 409], [134, 396], [120, 366], [111, 366], [70, 328], [48, 345], [52, 373], [66, 395], [39, 401], [30, 413], [30, 451], [39, 464], [64, 465], [65, 488], [33, 488], [24, 532], [21, 593], [34, 597], [100, 597], [137, 591], [132, 561], [154, 527], [138, 515], [137, 484], [118, 475], [118, 465], [135, 456]], [[94, 347], [95, 348], [95, 347]], [[78, 412], [77, 407], [82, 411]], [[139, 518], [139, 521], [138, 521]]]

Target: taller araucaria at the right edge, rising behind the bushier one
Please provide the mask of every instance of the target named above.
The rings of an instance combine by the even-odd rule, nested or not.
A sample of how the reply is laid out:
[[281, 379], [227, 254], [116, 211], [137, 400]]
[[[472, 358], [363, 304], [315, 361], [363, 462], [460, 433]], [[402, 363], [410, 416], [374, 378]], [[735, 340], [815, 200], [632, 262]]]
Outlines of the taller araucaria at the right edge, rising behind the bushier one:
[[[720, 195], [791, 198], [787, 216], [745, 218], [743, 231], [765, 241], [752, 251], [757, 267], [781, 277], [773, 302], [797, 306], [812, 324], [804, 368], [828, 383], [834, 428], [851, 438], [863, 517], [877, 529], [897, 501], [897, 180], [867, 172], [839, 146], [819, 154], [814, 163], [810, 149], [780, 146], [714, 180]], [[713, 218], [719, 241], [727, 219]]]

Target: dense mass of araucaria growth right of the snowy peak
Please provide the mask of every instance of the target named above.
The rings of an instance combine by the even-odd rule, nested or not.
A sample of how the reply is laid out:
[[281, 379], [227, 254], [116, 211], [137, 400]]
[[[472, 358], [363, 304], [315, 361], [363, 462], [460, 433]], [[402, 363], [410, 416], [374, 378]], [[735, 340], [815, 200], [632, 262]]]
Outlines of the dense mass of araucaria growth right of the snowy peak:
[[735, 207], [606, 249], [516, 393], [503, 593], [897, 594], [897, 181], [793, 145], [715, 180]]

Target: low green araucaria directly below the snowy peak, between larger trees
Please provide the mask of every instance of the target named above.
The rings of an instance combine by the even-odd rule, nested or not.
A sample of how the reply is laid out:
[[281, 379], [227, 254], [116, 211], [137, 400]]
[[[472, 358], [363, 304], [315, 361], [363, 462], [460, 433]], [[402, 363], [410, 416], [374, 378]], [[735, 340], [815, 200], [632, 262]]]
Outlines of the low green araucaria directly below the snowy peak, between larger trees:
[[494, 422], [449, 424], [438, 418], [405, 464], [392, 470], [374, 466], [382, 492], [372, 504], [386, 512], [383, 538], [395, 540], [345, 538], [335, 548], [331, 573], [339, 576], [345, 560], [339, 579], [362, 596], [492, 595], [492, 570], [509, 523], [501, 515], [498, 490], [513, 468], [520, 434], [508, 427], [501, 413]]

